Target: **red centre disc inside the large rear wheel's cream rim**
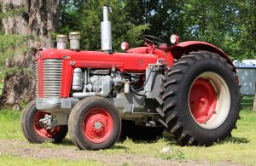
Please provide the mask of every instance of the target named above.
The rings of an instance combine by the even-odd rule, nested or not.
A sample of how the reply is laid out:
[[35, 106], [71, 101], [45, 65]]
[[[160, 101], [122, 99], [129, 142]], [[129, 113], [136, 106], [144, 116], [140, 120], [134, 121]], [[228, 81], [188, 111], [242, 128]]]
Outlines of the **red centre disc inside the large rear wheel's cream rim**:
[[216, 111], [217, 94], [212, 83], [198, 78], [189, 93], [189, 108], [197, 123], [206, 123]]

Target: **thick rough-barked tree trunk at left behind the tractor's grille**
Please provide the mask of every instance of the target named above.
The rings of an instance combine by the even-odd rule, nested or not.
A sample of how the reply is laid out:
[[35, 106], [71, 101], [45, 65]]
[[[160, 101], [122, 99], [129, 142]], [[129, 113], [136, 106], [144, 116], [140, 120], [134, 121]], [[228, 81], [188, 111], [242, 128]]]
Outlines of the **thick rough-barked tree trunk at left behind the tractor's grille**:
[[52, 48], [51, 32], [58, 25], [61, 0], [2, 0], [3, 13], [13, 9], [21, 11], [8, 18], [3, 18], [3, 34], [20, 34], [26, 42], [13, 49], [13, 58], [6, 60], [5, 68], [15, 67], [4, 78], [2, 103], [19, 104], [35, 97], [35, 80], [33, 75], [33, 55], [38, 48]]

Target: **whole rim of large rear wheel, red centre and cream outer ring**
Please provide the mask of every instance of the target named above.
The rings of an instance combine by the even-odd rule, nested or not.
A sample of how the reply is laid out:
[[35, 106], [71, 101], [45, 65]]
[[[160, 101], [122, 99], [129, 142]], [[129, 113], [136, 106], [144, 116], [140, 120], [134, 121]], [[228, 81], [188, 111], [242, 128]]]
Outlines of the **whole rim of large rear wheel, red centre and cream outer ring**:
[[223, 77], [204, 72], [189, 89], [189, 111], [204, 129], [216, 129], [230, 112], [230, 90]]

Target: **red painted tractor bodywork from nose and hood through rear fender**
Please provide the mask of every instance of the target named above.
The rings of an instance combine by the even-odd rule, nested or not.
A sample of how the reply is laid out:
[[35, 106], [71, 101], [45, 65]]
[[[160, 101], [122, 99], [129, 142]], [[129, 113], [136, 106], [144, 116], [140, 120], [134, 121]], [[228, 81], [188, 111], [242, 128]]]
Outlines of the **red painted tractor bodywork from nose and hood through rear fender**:
[[[80, 68], [116, 68], [120, 72], [145, 72], [148, 64], [155, 64], [158, 59], [166, 60], [168, 66], [173, 65], [174, 59], [179, 59], [182, 54], [188, 54], [191, 51], [207, 50], [220, 54], [230, 65], [231, 60], [221, 49], [204, 42], [184, 42], [178, 43], [166, 51], [156, 49], [154, 45], [146, 45], [127, 50], [127, 53], [107, 54], [97, 51], [73, 51], [67, 49], [46, 49], [40, 51], [35, 59], [38, 60], [38, 96], [44, 97], [44, 77], [43, 60], [61, 59], [62, 77], [61, 77], [61, 98], [70, 96], [70, 90], [73, 79], [73, 69]], [[234, 68], [234, 72], [236, 69]]]

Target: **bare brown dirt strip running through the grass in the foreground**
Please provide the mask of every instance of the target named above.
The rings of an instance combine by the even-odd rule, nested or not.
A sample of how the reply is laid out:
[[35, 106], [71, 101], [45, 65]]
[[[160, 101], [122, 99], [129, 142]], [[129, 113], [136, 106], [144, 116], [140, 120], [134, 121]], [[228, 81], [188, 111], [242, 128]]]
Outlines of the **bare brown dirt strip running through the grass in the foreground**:
[[[48, 148], [38, 147], [22, 140], [0, 140], [0, 155], [13, 155], [17, 157], [33, 157], [37, 159], [59, 158], [67, 160], [94, 160], [108, 165], [238, 165], [230, 162], [210, 163], [207, 161], [179, 162], [164, 160], [158, 157], [147, 157], [135, 154], [103, 154], [100, 151], [80, 151], [76, 148]], [[240, 164], [239, 164], [240, 165]]]

